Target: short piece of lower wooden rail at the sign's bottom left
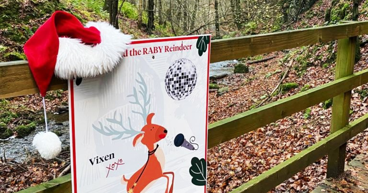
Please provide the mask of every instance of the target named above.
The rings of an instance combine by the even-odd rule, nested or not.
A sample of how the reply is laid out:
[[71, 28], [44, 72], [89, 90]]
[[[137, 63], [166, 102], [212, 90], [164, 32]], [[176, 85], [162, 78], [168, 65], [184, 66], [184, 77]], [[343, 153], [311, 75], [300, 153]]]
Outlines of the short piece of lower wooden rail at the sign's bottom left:
[[72, 193], [71, 174], [29, 187], [18, 193]]

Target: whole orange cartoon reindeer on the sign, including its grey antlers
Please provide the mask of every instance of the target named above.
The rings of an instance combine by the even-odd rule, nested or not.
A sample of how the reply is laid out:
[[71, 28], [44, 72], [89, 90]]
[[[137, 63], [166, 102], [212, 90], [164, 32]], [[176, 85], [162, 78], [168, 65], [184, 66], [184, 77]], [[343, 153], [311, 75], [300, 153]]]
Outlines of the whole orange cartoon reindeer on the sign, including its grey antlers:
[[[133, 87], [133, 94], [129, 94], [127, 97], [131, 97], [135, 99], [134, 101], [130, 101], [129, 103], [138, 105], [141, 108], [141, 112], [132, 111], [132, 113], [139, 114], [143, 118], [144, 126], [141, 131], [136, 131], [130, 122], [130, 117], [128, 117], [128, 125], [129, 127], [123, 124], [122, 114], [119, 113], [117, 116], [117, 112], [114, 112], [114, 118], [106, 118], [109, 123], [114, 125], [119, 125], [121, 130], [117, 130], [112, 125], [104, 125], [101, 121], [98, 121], [99, 126], [92, 125], [93, 128], [105, 136], [116, 136], [113, 140], [117, 139], [128, 139], [135, 137], [133, 139], [133, 147], [137, 145], [137, 143], [141, 142], [148, 148], [148, 158], [147, 162], [141, 169], [139, 169], [136, 173], [134, 173], [130, 179], [126, 179], [123, 175], [121, 178], [121, 183], [126, 184], [126, 191], [128, 193], [143, 193], [145, 192], [153, 183], [159, 178], [166, 178], [166, 189], [165, 193], [172, 193], [174, 186], [174, 172], [162, 172], [165, 157], [163, 151], [158, 147], [157, 142], [161, 139], [164, 139], [168, 134], [168, 131], [160, 125], [152, 124], [152, 117], [154, 113], [150, 113], [150, 100], [151, 94], [147, 92], [147, 84], [144, 81], [142, 75], [138, 73], [139, 79], [136, 79], [136, 82], [139, 84], [139, 91], [137, 91], [136, 87]], [[139, 99], [139, 95], [141, 96], [141, 100]], [[143, 103], [141, 103], [143, 102]], [[172, 175], [172, 181], [170, 184], [170, 178], [168, 175]]]

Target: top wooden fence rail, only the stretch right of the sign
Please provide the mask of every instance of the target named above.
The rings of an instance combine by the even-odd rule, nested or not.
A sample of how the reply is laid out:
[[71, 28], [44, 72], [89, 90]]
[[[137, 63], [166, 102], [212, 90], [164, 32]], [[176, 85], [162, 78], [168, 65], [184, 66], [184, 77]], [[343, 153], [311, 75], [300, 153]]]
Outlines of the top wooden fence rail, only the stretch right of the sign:
[[346, 39], [367, 33], [368, 21], [361, 21], [214, 40], [211, 43], [211, 62]]

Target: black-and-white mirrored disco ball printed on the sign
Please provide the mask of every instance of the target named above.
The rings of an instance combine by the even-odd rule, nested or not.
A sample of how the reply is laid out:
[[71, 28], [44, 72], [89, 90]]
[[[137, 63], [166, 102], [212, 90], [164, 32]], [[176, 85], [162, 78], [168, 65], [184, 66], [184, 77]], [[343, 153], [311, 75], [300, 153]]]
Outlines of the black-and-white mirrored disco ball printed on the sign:
[[169, 96], [183, 100], [193, 91], [197, 82], [197, 72], [192, 61], [181, 58], [169, 67], [165, 77], [165, 88]]

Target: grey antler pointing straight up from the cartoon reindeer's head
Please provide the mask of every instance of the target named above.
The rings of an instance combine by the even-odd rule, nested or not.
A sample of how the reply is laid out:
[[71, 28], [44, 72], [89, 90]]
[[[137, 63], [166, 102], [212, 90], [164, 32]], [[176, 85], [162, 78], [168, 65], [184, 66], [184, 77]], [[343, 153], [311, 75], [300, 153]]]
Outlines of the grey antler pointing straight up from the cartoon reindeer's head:
[[[147, 93], [147, 84], [144, 81], [142, 75], [140, 73], [138, 73], [138, 76], [139, 76], [140, 80], [136, 79], [136, 82], [139, 84], [140, 90], [138, 92], [142, 96], [143, 104], [141, 104], [141, 102], [139, 100], [138, 92], [137, 92], [136, 87], [133, 87], [133, 94], [129, 94], [127, 97], [132, 97], [132, 98], [135, 99], [135, 101], [129, 101], [129, 103], [139, 105], [141, 107], [142, 112], [138, 112], [138, 111], [131, 111], [131, 112], [141, 115], [142, 118], [143, 118], [144, 125], [146, 125], [147, 124], [146, 118], [147, 118], [147, 116], [150, 112], [150, 109], [151, 109], [151, 105], [149, 105], [150, 100], [151, 100], [151, 94]], [[147, 109], [147, 106], [148, 106], [148, 109]]]

